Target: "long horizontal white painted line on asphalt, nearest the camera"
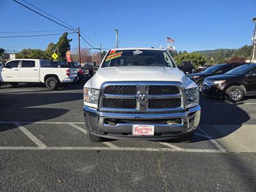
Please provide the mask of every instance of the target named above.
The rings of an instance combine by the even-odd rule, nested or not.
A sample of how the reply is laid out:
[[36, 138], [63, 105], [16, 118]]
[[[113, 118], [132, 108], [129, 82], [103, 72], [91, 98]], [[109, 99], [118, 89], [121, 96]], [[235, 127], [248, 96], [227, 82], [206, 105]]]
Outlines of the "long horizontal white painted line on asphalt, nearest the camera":
[[224, 153], [216, 149], [182, 148], [141, 148], [141, 147], [0, 147], [0, 150], [117, 150], [117, 151], [145, 151], [145, 152], [199, 152], [199, 153]]

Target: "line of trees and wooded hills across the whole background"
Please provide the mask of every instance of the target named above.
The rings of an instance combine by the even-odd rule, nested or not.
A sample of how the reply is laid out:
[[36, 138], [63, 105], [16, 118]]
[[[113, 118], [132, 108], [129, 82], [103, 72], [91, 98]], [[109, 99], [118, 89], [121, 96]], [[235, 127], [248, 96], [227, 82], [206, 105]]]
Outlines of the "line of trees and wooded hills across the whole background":
[[[58, 42], [54, 44], [50, 42], [45, 50], [41, 49], [22, 49], [16, 54], [17, 59], [35, 58], [42, 60], [54, 60], [52, 54], [56, 52], [58, 54], [57, 60], [66, 61], [66, 52], [70, 51], [70, 42], [72, 38], [68, 39], [68, 33], [65, 32], [60, 36]], [[0, 49], [0, 55], [4, 54], [4, 49]], [[101, 58], [104, 58], [106, 51], [103, 51]], [[250, 59], [252, 54], [252, 45], [244, 45], [239, 49], [214, 49], [207, 51], [171, 51], [170, 54], [178, 65], [182, 61], [192, 61], [195, 68], [204, 66], [205, 63], [218, 64], [218, 63], [233, 63], [244, 62]], [[71, 52], [72, 61], [79, 61], [78, 48], [75, 48]], [[91, 53], [89, 49], [81, 49], [81, 63], [86, 61], [96, 61], [100, 63], [100, 52]]]

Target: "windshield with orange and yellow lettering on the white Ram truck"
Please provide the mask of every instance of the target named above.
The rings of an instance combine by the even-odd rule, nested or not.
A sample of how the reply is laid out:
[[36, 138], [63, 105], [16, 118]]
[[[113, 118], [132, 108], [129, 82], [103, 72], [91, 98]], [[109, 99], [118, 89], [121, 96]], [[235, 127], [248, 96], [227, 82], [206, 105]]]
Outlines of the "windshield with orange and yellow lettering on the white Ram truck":
[[161, 50], [113, 50], [109, 51], [102, 67], [158, 66], [175, 67], [172, 58]]

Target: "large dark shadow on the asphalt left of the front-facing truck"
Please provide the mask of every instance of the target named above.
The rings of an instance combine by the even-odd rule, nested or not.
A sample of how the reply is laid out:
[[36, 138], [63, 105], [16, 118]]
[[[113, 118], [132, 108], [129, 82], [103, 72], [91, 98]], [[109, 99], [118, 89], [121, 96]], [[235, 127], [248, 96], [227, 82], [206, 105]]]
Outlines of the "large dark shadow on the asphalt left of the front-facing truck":
[[[0, 93], [0, 121], [1, 122], [39, 122], [51, 120], [65, 115], [69, 111], [66, 108], [54, 108], [52, 106], [44, 106], [58, 104], [62, 102], [72, 102], [83, 99], [83, 84], [79, 84], [74, 90], [81, 90], [79, 93], [64, 92], [58, 93], [45, 91], [43, 93], [36, 92], [10, 92]], [[37, 90], [40, 92], [40, 90]], [[26, 94], [24, 94], [26, 93]], [[81, 106], [82, 113], [82, 106]], [[10, 129], [16, 128], [14, 124], [10, 124]], [[6, 129], [1, 129], [0, 132]]]

